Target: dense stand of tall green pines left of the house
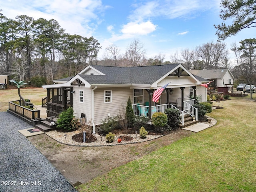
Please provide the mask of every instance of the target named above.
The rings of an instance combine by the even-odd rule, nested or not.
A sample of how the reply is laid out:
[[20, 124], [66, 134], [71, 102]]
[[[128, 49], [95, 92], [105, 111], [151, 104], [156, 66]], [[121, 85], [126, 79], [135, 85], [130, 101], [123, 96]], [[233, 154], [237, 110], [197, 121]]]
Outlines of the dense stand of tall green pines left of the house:
[[54, 19], [20, 15], [13, 20], [1, 11], [0, 74], [51, 83], [97, 63], [101, 46], [95, 38], [67, 34]]

